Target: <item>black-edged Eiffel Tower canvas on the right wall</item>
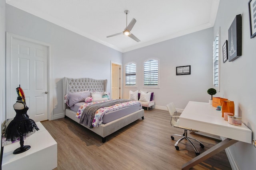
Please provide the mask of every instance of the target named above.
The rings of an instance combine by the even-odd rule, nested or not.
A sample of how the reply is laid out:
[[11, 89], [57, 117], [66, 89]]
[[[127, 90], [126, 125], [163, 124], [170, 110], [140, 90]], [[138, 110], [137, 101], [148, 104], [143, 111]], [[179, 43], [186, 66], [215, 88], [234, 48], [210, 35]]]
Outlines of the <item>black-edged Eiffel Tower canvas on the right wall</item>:
[[237, 15], [228, 29], [228, 61], [242, 55], [242, 16]]

